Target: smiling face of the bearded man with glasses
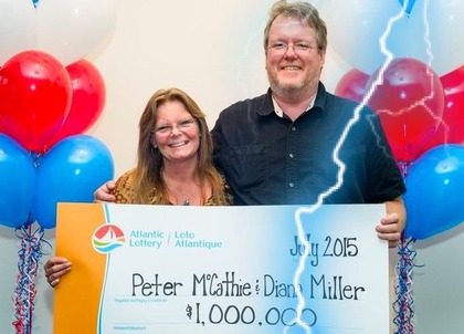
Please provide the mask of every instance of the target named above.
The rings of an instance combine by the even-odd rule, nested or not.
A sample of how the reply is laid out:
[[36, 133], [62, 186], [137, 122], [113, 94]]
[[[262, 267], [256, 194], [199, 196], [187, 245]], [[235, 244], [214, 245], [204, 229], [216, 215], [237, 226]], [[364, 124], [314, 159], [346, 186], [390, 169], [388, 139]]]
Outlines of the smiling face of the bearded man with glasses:
[[274, 94], [314, 94], [324, 60], [313, 28], [296, 18], [280, 15], [274, 20], [266, 50], [267, 77]]

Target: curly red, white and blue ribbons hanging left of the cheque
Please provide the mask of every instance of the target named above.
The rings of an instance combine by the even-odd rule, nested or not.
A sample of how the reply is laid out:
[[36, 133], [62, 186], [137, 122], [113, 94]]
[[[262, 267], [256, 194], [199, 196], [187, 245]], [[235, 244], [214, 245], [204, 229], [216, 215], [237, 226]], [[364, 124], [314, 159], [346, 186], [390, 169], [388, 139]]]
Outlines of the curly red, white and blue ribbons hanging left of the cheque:
[[33, 229], [31, 225], [22, 226], [14, 230], [20, 239], [20, 250], [18, 251], [18, 275], [14, 289], [14, 320], [12, 325], [17, 334], [31, 334], [33, 311], [36, 296], [36, 276], [39, 273], [40, 259], [44, 254], [42, 244], [48, 241], [43, 239], [44, 229], [39, 227]]

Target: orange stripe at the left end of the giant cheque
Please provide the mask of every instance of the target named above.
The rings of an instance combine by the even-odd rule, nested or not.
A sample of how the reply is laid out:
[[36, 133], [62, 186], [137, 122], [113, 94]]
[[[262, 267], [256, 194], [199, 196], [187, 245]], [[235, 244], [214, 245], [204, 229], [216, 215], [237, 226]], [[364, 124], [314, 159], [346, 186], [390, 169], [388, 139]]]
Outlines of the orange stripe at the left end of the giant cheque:
[[101, 203], [59, 203], [56, 254], [73, 268], [54, 294], [54, 334], [95, 333], [106, 255], [92, 246], [95, 229], [105, 223]]

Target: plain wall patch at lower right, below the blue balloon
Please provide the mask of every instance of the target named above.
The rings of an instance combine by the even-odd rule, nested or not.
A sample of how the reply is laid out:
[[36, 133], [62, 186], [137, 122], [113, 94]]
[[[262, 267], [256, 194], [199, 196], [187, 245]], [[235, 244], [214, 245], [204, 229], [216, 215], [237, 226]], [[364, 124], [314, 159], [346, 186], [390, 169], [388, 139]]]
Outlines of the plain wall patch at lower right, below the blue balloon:
[[464, 225], [416, 241], [413, 248], [418, 251], [413, 270], [416, 333], [462, 333]]

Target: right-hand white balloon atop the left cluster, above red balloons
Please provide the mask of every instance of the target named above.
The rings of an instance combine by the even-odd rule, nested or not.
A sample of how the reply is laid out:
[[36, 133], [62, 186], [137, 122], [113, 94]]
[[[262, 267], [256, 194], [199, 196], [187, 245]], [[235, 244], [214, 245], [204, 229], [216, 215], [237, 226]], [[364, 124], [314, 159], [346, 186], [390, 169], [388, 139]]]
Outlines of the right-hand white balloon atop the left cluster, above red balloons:
[[72, 64], [104, 44], [116, 25], [114, 0], [41, 0], [38, 48]]

